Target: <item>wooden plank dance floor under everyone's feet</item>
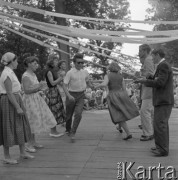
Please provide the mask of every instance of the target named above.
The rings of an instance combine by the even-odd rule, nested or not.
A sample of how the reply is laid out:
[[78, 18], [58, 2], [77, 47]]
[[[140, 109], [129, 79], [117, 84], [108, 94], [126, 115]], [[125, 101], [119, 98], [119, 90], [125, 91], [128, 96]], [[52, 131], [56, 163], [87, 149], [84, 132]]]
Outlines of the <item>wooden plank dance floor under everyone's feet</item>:
[[[169, 172], [172, 175], [171, 166], [178, 171], [178, 109], [173, 110], [170, 119], [168, 157], [152, 156], [149, 149], [154, 141], [139, 140], [141, 131], [138, 124], [139, 118], [128, 122], [134, 138], [123, 141], [124, 134], [115, 129], [107, 110], [85, 111], [75, 143], [71, 143], [67, 135], [51, 138], [42, 134], [38, 139], [45, 148], [34, 154], [34, 160], [21, 160], [15, 166], [0, 162], [0, 180], [112, 180], [117, 179], [118, 162], [127, 162], [126, 167], [135, 162], [130, 170], [134, 175], [142, 171], [139, 177], [148, 177], [149, 167], [158, 167], [159, 163], [165, 168], [161, 170], [162, 177]], [[64, 128], [59, 130], [64, 131]], [[18, 148], [11, 148], [11, 154], [18, 158]], [[3, 159], [2, 147], [0, 159]], [[127, 178], [132, 179], [127, 172]], [[152, 177], [158, 179], [158, 170], [153, 171]]]

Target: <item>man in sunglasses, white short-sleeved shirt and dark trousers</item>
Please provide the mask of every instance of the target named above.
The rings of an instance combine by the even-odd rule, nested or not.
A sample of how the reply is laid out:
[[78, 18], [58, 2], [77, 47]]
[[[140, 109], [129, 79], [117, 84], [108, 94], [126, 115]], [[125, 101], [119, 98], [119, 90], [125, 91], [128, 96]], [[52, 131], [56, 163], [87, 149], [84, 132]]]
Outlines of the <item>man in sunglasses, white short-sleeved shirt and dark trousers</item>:
[[[68, 88], [74, 100], [66, 99], [66, 133], [75, 140], [75, 133], [82, 119], [82, 111], [84, 106], [85, 90], [87, 85], [93, 87], [89, 81], [89, 74], [87, 70], [83, 69], [83, 54], [76, 54], [73, 58], [74, 68], [67, 72], [64, 78], [64, 84]], [[72, 123], [72, 116], [74, 120]]]

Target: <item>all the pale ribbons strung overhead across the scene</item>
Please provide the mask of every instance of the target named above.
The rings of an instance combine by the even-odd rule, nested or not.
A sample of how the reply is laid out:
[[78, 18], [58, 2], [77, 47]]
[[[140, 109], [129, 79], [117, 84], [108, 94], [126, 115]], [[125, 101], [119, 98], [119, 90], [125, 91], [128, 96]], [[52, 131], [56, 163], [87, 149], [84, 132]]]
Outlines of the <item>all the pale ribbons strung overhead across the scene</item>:
[[[112, 22], [112, 23], [147, 23], [147, 24], [178, 24], [178, 21], [133, 21], [133, 20], [115, 20], [115, 19], [98, 19], [98, 18], [89, 18], [89, 17], [81, 17], [81, 16], [71, 16], [71, 15], [66, 15], [66, 14], [60, 14], [60, 13], [54, 13], [54, 12], [49, 12], [49, 11], [45, 11], [45, 10], [41, 10], [41, 9], [37, 9], [37, 8], [32, 8], [32, 7], [28, 7], [28, 6], [24, 6], [24, 5], [20, 5], [20, 4], [16, 4], [16, 3], [8, 3], [5, 1], [0, 0], [0, 5], [3, 6], [10, 6], [12, 8], [15, 9], [21, 9], [21, 10], [25, 10], [25, 11], [30, 11], [30, 12], [35, 12], [38, 14], [42, 14], [44, 16], [55, 16], [55, 17], [60, 17], [60, 18], [67, 18], [67, 19], [75, 19], [78, 21], [84, 21], [84, 22], [88, 22], [88, 23], [100, 23], [100, 24], [105, 24], [105, 22]], [[49, 40], [55, 40], [56, 42], [59, 43], [63, 43], [72, 47], [75, 47], [77, 49], [82, 49], [84, 51], [89, 51], [98, 55], [102, 55], [105, 57], [108, 57], [110, 59], [116, 60], [118, 62], [118, 58], [115, 57], [111, 57], [108, 56], [104, 53], [99, 53], [97, 51], [93, 51], [89, 48], [85, 48], [82, 47], [81, 45], [72, 43], [72, 42], [79, 42], [79, 40], [74, 39], [73, 37], [80, 37], [80, 38], [87, 38], [87, 39], [93, 39], [93, 40], [100, 40], [100, 41], [107, 41], [107, 42], [115, 42], [115, 43], [133, 43], [133, 44], [155, 44], [155, 43], [164, 43], [164, 42], [169, 42], [169, 41], [173, 41], [178, 39], [178, 30], [170, 30], [170, 31], [144, 31], [144, 30], [139, 30], [139, 29], [134, 29], [136, 31], [139, 32], [126, 32], [126, 31], [106, 31], [106, 30], [92, 30], [92, 29], [83, 29], [83, 28], [73, 28], [73, 27], [67, 27], [67, 26], [60, 26], [60, 25], [56, 25], [56, 24], [49, 24], [49, 23], [44, 23], [44, 22], [39, 22], [39, 21], [35, 21], [35, 20], [31, 20], [31, 19], [27, 19], [27, 18], [22, 18], [22, 17], [17, 17], [17, 16], [13, 16], [10, 14], [6, 14], [3, 12], [0, 12], [0, 18], [1, 19], [8, 19], [10, 21], [13, 22], [18, 22], [20, 24], [29, 26], [29, 27], [33, 27], [36, 29], [40, 29], [43, 32], [48, 32], [50, 34], [54, 34], [54, 35], [58, 35], [58, 36], [63, 36], [65, 38], [67, 38], [68, 40], [71, 40], [71, 42], [65, 41], [65, 40], [61, 40], [59, 38], [56, 37], [51, 37], [51, 36], [47, 36], [45, 34], [39, 33], [39, 32], [35, 32], [32, 30], [29, 30], [27, 28], [23, 28], [20, 27], [18, 25], [16, 25], [16, 27], [23, 29], [26, 32], [31, 32], [33, 34], [45, 37]], [[0, 21], [0, 23], [2, 24], [8, 24], [8, 21]], [[11, 24], [12, 25], [12, 24]], [[105, 25], [108, 25], [108, 23], [106, 23]], [[4, 25], [0, 25], [3, 28], [8, 29], [9, 31], [12, 31], [16, 34], [19, 34], [31, 41], [34, 41], [42, 46], [45, 47], [49, 47], [49, 48], [53, 48], [55, 50], [58, 50], [60, 52], [63, 52], [65, 54], [68, 54], [67, 52], [64, 52], [54, 46], [51, 46], [47, 43], [44, 43], [42, 41], [39, 41], [35, 38], [32, 38], [30, 36], [24, 35], [20, 32], [17, 32], [15, 30], [12, 30], [11, 28], [8, 28]], [[14, 24], [12, 26], [15, 26]], [[131, 29], [131, 28], [128, 28]], [[123, 36], [123, 37], [122, 37]], [[126, 37], [128, 36], [128, 37]], [[130, 37], [131, 36], [131, 37]], [[144, 38], [140, 37], [140, 36], [145, 36]], [[94, 46], [96, 48], [100, 48], [104, 51], [110, 51], [113, 53], [114, 52], [112, 50], [106, 49], [106, 48], [102, 48], [102, 47], [98, 47], [89, 43], [85, 43], [89, 46]], [[122, 54], [120, 54], [122, 56]], [[135, 57], [132, 57], [135, 58]], [[135, 58], [136, 59], [136, 58]], [[120, 64], [123, 64], [124, 66], [126, 66], [127, 62], [119, 62]]]

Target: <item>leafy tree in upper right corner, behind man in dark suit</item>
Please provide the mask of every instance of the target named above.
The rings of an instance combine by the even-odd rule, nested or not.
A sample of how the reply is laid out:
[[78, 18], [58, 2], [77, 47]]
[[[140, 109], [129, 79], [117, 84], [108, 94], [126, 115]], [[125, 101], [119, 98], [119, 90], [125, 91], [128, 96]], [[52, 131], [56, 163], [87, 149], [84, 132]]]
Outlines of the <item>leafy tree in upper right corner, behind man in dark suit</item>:
[[[177, 0], [149, 0], [152, 5], [151, 9], [148, 9], [150, 14], [148, 16], [151, 20], [161, 21], [177, 21], [178, 19], [178, 1]], [[154, 30], [165, 31], [165, 30], [176, 30], [178, 25], [160, 24], [154, 27]], [[175, 66], [178, 67], [178, 40], [166, 42], [163, 44], [152, 45], [154, 48], [162, 47], [166, 52], [166, 59]]]

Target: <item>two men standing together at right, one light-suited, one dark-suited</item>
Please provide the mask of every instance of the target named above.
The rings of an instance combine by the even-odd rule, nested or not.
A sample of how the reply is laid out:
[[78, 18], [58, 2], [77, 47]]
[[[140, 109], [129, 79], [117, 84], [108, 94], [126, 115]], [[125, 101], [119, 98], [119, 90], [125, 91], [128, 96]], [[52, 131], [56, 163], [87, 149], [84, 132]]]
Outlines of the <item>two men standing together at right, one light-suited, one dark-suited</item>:
[[[168, 156], [168, 121], [174, 105], [173, 73], [170, 64], [165, 60], [164, 51], [157, 49], [150, 53], [150, 50], [146, 44], [140, 46], [139, 56], [143, 57], [143, 60], [141, 59], [143, 64], [142, 77], [135, 81], [135, 83], [142, 84], [141, 123], [143, 136], [141, 140], [151, 140], [152, 135], [154, 135], [155, 147], [151, 148], [151, 152], [158, 157]], [[152, 62], [155, 66], [152, 65]], [[145, 88], [152, 88], [152, 90], [148, 93], [149, 89]], [[144, 94], [144, 92], [147, 93]]]

